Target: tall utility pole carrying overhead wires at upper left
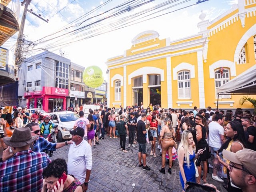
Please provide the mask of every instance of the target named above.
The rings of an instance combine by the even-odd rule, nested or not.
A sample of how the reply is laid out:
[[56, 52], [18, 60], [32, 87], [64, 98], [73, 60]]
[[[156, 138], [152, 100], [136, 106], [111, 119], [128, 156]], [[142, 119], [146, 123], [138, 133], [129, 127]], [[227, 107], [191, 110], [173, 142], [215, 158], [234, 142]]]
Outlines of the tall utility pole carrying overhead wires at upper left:
[[25, 8], [23, 11], [23, 15], [22, 15], [22, 20], [21, 20], [21, 24], [20, 24], [20, 31], [18, 34], [18, 40], [17, 40], [17, 44], [16, 44], [16, 49], [15, 49], [15, 66], [14, 66], [14, 76], [16, 77], [16, 79], [18, 79], [18, 68], [20, 66], [20, 62], [21, 62], [21, 46], [22, 46], [22, 37], [23, 37], [23, 32], [24, 32], [24, 25], [25, 25], [25, 21], [26, 21], [26, 15], [27, 15], [27, 10], [28, 10], [28, 5], [30, 4], [31, 0], [24, 0], [21, 5], [23, 6], [25, 4]]

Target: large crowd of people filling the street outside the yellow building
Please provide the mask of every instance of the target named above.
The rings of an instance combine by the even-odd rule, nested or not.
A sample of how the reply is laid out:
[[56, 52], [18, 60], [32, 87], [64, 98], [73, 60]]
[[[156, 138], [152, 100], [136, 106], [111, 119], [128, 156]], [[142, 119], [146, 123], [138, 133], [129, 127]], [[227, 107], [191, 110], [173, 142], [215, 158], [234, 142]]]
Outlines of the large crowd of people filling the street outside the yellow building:
[[[202, 187], [200, 182], [216, 188], [207, 184], [209, 168], [213, 169], [212, 179], [222, 182], [228, 192], [256, 191], [256, 116], [250, 111], [238, 108], [233, 115], [232, 110], [214, 111], [210, 106], [186, 111], [164, 109], [152, 103], [144, 108], [141, 103], [120, 106], [118, 110], [100, 106], [99, 110], [88, 112], [85, 117], [82, 110], [78, 111], [80, 118], [70, 131], [71, 141], [50, 143], [40, 137], [54, 127], [49, 116], [39, 112], [30, 115], [26, 108], [3, 116], [0, 110], [0, 124], [4, 126], [4, 137], [0, 139], [4, 148], [0, 191], [86, 191], [92, 148], [106, 137], [119, 138], [124, 153], [138, 146], [138, 168], [142, 170], [151, 170], [147, 156], [160, 155], [159, 172], [166, 173], [168, 161], [167, 172], [172, 174], [173, 160], [178, 157], [183, 191]], [[151, 145], [150, 151], [147, 144]], [[63, 159], [51, 162], [43, 153], [66, 145], [70, 145], [67, 164]]]

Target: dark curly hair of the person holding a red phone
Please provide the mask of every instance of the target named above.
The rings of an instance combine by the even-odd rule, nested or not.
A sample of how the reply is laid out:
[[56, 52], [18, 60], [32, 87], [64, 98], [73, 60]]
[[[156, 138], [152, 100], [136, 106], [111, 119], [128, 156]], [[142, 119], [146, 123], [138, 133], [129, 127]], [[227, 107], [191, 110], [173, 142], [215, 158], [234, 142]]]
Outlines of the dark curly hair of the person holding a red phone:
[[60, 178], [63, 172], [68, 174], [68, 166], [64, 159], [58, 158], [53, 160], [43, 171], [43, 178], [48, 178], [54, 176], [55, 178]]

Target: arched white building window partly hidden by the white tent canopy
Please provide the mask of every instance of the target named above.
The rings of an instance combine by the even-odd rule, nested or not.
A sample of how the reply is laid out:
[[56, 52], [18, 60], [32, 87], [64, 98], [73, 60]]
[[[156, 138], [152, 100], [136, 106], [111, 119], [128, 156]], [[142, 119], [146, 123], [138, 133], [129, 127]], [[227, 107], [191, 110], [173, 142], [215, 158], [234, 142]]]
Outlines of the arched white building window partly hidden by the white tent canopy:
[[[224, 85], [226, 82], [229, 82], [230, 80], [230, 73], [229, 69], [218, 69], [215, 72], [215, 98], [218, 98], [218, 95], [216, 94], [216, 88]], [[219, 98], [230, 98], [230, 94], [228, 95], [220, 95]]]

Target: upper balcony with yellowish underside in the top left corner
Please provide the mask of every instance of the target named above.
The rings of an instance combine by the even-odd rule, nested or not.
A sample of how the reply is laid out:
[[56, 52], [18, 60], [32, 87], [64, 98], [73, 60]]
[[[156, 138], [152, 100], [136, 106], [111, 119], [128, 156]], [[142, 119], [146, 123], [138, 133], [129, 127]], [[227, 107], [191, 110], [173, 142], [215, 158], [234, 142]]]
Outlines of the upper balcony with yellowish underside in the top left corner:
[[0, 0], [0, 46], [20, 30], [19, 0]]

